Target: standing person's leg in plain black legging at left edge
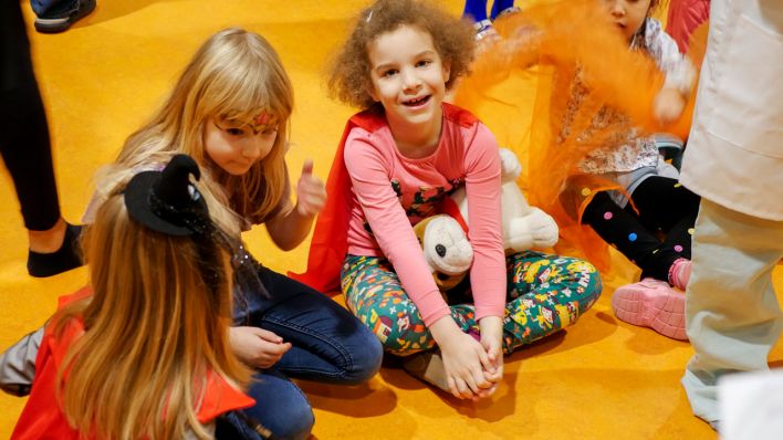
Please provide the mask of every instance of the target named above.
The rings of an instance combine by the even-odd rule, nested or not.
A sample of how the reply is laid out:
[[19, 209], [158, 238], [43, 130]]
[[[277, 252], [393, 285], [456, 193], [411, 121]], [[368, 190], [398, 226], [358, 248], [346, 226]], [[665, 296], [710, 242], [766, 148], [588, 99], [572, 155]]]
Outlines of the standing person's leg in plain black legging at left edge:
[[45, 231], [60, 219], [60, 200], [19, 0], [0, 0], [0, 154], [17, 188], [24, 227]]

